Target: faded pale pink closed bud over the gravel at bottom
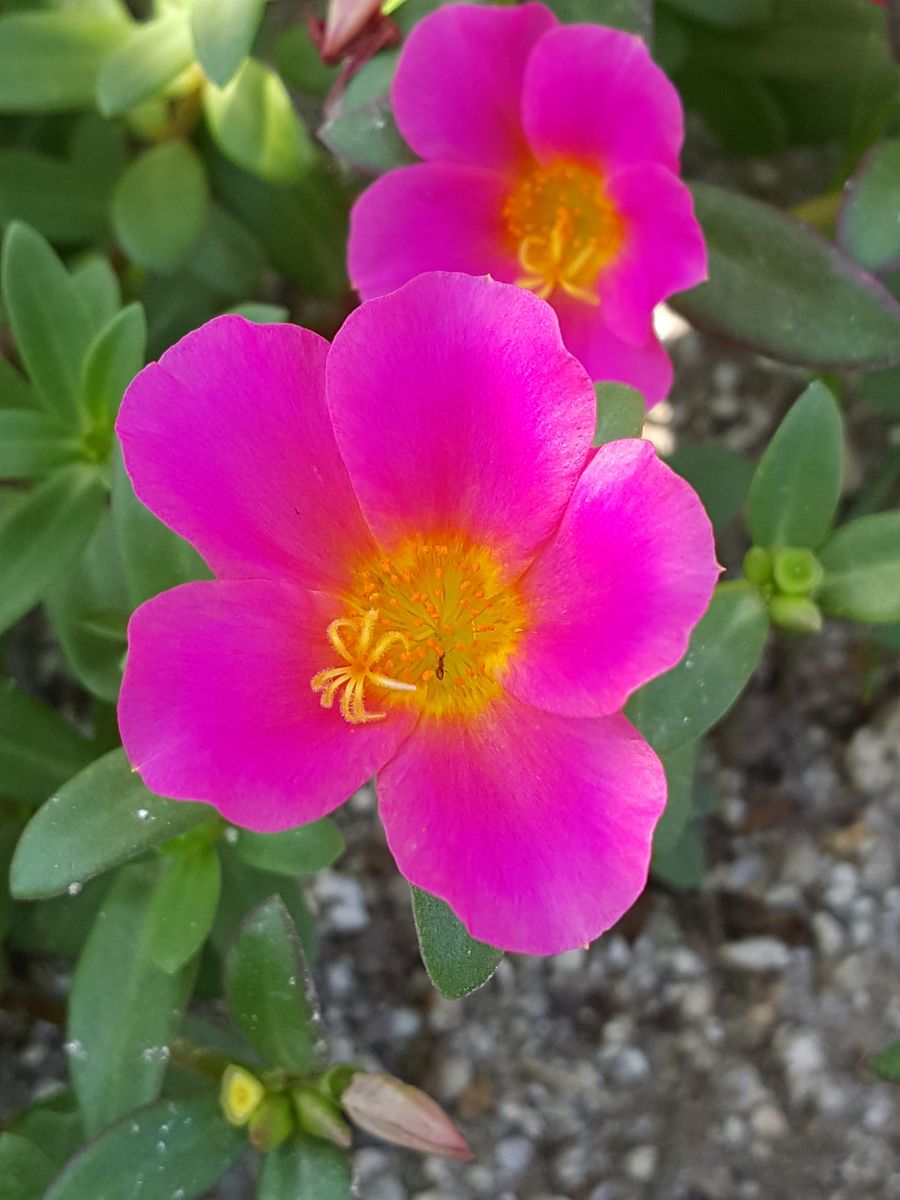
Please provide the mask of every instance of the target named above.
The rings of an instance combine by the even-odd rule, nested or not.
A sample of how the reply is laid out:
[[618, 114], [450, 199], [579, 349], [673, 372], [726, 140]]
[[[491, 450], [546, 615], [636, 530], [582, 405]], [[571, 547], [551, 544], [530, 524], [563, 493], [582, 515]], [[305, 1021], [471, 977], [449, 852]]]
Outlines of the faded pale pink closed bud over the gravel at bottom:
[[466, 1139], [430, 1096], [391, 1075], [359, 1072], [344, 1091], [341, 1104], [347, 1116], [366, 1133], [418, 1150], [468, 1162]]

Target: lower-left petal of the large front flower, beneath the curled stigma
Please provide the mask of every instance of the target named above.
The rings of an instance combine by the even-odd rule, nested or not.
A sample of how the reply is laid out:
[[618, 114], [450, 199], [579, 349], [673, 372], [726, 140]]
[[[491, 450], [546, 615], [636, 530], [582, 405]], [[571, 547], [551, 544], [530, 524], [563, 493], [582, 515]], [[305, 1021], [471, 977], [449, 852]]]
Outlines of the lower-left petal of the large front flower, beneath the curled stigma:
[[128, 625], [119, 725], [152, 791], [263, 832], [314, 821], [394, 754], [414, 716], [348, 725], [312, 676], [337, 601], [270, 580], [186, 583]]

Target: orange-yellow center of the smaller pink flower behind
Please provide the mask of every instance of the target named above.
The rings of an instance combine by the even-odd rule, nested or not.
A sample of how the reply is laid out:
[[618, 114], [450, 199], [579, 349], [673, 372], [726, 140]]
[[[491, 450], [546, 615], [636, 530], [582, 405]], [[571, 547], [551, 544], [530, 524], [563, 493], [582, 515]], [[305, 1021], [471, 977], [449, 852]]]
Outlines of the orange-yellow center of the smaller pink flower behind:
[[623, 222], [595, 167], [535, 163], [503, 206], [526, 275], [516, 280], [546, 300], [554, 288], [600, 304], [596, 280], [622, 245]]

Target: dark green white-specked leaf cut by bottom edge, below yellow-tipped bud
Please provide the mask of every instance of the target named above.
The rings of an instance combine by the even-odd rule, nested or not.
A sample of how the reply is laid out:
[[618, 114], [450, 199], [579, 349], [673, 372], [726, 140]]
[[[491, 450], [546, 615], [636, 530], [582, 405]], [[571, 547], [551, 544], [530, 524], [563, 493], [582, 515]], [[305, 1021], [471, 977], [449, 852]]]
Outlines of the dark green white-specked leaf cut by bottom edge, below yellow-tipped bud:
[[160, 1100], [85, 1146], [43, 1200], [193, 1200], [246, 1147], [246, 1134], [226, 1123], [215, 1096]]

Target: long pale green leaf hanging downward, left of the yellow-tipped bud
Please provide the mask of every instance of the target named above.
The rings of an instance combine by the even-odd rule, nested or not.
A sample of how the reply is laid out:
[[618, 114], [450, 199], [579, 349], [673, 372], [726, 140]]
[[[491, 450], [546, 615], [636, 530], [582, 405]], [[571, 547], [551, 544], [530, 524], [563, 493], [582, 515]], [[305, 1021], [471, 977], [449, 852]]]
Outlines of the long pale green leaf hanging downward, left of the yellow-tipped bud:
[[120, 870], [72, 979], [68, 1069], [89, 1135], [160, 1094], [168, 1043], [191, 995], [192, 970], [169, 974], [149, 953], [160, 865]]

